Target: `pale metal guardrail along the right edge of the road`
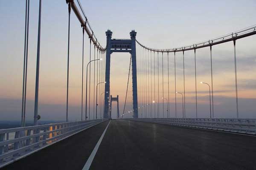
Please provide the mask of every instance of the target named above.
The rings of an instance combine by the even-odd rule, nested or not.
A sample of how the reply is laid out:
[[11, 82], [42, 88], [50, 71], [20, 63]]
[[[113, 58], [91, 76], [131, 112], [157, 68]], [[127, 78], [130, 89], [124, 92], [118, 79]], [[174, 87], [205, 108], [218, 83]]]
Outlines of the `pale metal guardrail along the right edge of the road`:
[[129, 120], [256, 135], [256, 119], [132, 118]]

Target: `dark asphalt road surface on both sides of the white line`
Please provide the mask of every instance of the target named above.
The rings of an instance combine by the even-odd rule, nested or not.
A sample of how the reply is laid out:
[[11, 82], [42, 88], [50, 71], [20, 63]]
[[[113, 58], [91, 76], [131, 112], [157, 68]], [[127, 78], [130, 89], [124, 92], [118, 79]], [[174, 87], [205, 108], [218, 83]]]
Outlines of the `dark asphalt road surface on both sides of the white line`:
[[[81, 170], [109, 121], [3, 170]], [[112, 120], [90, 170], [255, 170], [256, 137]]]

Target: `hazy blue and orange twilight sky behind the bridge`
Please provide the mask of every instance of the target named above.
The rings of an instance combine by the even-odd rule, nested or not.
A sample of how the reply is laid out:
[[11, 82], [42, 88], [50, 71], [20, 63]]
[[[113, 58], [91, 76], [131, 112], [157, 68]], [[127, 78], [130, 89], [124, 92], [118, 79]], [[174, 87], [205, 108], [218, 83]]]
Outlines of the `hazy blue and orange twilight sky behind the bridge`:
[[[80, 0], [93, 31], [102, 46], [105, 31], [112, 38], [130, 38], [151, 48], [175, 48], [209, 40], [247, 26], [255, 25], [256, 1], [247, 0]], [[20, 120], [25, 0], [0, 0], [0, 120]], [[38, 0], [30, 1], [29, 53], [26, 120], [32, 120], [35, 98], [35, 66], [38, 31]], [[67, 81], [68, 9], [65, 0], [42, 1], [39, 114], [42, 120], [65, 120]], [[236, 42], [239, 116], [256, 118], [256, 36]], [[85, 63], [89, 61], [89, 39], [85, 36]], [[140, 49], [137, 49], [139, 52]], [[215, 116], [236, 117], [233, 42], [213, 46], [213, 87]], [[82, 31], [75, 14], [70, 27], [69, 120], [81, 116]], [[140, 55], [138, 55], [140, 57]], [[164, 54], [166, 61], [167, 55]], [[111, 94], [119, 95], [123, 111], [130, 54], [111, 55]], [[161, 56], [160, 56], [161, 59]], [[170, 115], [175, 116], [174, 56], [169, 54]], [[177, 91], [183, 91], [182, 53], [176, 55]], [[209, 117], [209, 48], [197, 51], [198, 117]], [[138, 68], [140, 69], [140, 68]], [[195, 117], [195, 77], [193, 51], [185, 52], [186, 115]], [[167, 92], [167, 64], [164, 62], [164, 97]], [[138, 80], [139, 81], [139, 80]], [[160, 84], [161, 87], [162, 84]], [[126, 111], [132, 109], [132, 88], [128, 88]], [[162, 93], [162, 91], [160, 91]], [[148, 93], [151, 95], [150, 93]], [[140, 91], [139, 91], [140, 95]], [[177, 116], [182, 113], [177, 96]], [[162, 102], [160, 113], [163, 112]], [[165, 106], [164, 106], [165, 107]], [[93, 108], [93, 105], [91, 105]], [[161, 110], [162, 109], [162, 110]], [[153, 108], [154, 110], [154, 108]], [[165, 109], [164, 109], [165, 110]], [[161, 115], [161, 114], [160, 114]], [[131, 115], [125, 115], [129, 117]], [[116, 104], [113, 104], [113, 118]]]

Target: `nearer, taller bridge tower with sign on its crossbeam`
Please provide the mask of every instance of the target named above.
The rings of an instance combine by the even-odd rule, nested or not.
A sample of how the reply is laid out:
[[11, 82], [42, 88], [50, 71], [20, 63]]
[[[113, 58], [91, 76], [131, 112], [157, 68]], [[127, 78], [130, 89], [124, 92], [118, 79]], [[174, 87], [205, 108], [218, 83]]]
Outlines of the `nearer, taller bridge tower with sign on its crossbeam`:
[[[131, 39], [120, 40], [111, 39], [112, 31], [106, 31], [107, 50], [106, 50], [106, 72], [105, 72], [105, 107], [104, 118], [110, 118], [109, 112], [109, 91], [110, 91], [110, 57], [113, 52], [128, 52], [131, 54], [132, 63], [132, 93], [133, 93], [133, 110], [134, 118], [138, 118], [138, 100], [137, 100], [137, 66], [136, 66], [136, 34], [134, 30], [130, 32]], [[108, 92], [108, 93], [106, 93]]]

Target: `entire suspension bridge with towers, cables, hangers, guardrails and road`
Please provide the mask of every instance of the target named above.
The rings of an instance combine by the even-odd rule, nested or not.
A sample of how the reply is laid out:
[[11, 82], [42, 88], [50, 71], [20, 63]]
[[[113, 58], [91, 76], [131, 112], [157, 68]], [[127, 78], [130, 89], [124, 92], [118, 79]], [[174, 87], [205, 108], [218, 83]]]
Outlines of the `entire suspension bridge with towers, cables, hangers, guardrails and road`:
[[[199, 169], [253, 170], [256, 144], [256, 119], [241, 118], [237, 77], [236, 42], [254, 37], [256, 25], [204, 42], [179, 48], [157, 49], [137, 40], [113, 39], [107, 30], [106, 46], [97, 40], [79, 0], [66, 0], [68, 11], [67, 92], [65, 122], [41, 125], [38, 114], [40, 86], [41, 0], [39, 0], [38, 43], [36, 58], [34, 125], [26, 126], [26, 91], [29, 42], [29, 0], [26, 0], [26, 22], [23, 55], [23, 88], [21, 126], [0, 130], [0, 168], [28, 169]], [[70, 15], [81, 24], [82, 77], [81, 120], [69, 121]], [[139, 33], [138, 34], [143, 34]], [[84, 55], [84, 37], [89, 38], [90, 55]], [[236, 118], [222, 118], [215, 113], [213, 63], [215, 46], [233, 42], [233, 85], [236, 96]], [[197, 78], [197, 51], [208, 49], [210, 82]], [[185, 56], [193, 53], [194, 75], [186, 79]], [[119, 96], [111, 94], [111, 54], [129, 53], [124, 108], [119, 113]], [[182, 67], [177, 68], [177, 54]], [[89, 59], [84, 63], [84, 58]], [[173, 66], [170, 63], [174, 63]], [[93, 68], [93, 69], [92, 69]], [[183, 72], [183, 84], [177, 85], [177, 69]], [[172, 74], [174, 73], [174, 74]], [[79, 82], [80, 83], [80, 82]], [[186, 85], [193, 84], [193, 116], [186, 112]], [[198, 115], [198, 85], [207, 87], [208, 116]], [[177, 91], [182, 88], [182, 91]], [[130, 89], [131, 88], [131, 89]], [[129, 90], [132, 108], [126, 105]], [[85, 90], [85, 91], [84, 91]], [[208, 93], [209, 90], [209, 93]], [[85, 94], [85, 96], [84, 96]], [[172, 101], [174, 97], [174, 101]], [[182, 100], [182, 104], [180, 101]], [[117, 102], [114, 119], [112, 102]], [[191, 105], [191, 103], [189, 103]], [[180, 107], [182, 112], [180, 113]]]

